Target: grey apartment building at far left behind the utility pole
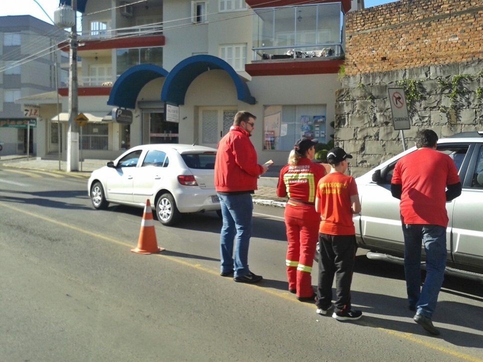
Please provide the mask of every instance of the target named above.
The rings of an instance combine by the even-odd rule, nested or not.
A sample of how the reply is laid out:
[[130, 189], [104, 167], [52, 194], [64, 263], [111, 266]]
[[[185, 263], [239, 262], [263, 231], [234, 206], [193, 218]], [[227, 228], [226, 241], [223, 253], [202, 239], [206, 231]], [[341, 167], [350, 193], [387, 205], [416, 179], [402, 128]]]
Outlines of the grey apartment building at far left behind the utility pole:
[[62, 32], [55, 26], [30, 15], [0, 16], [2, 155], [36, 152], [40, 107], [36, 103], [25, 103], [24, 107], [15, 102], [56, 89], [52, 49], [61, 36]]

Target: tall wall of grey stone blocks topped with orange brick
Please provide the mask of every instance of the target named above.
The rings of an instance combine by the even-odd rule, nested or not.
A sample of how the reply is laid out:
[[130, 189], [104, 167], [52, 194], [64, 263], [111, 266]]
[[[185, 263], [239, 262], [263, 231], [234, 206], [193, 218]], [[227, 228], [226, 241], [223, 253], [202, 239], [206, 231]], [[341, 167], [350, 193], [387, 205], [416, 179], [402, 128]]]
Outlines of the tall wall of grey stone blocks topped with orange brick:
[[335, 144], [354, 155], [353, 176], [404, 149], [388, 88], [405, 89], [407, 148], [421, 128], [483, 130], [483, 2], [400, 0], [348, 14]]

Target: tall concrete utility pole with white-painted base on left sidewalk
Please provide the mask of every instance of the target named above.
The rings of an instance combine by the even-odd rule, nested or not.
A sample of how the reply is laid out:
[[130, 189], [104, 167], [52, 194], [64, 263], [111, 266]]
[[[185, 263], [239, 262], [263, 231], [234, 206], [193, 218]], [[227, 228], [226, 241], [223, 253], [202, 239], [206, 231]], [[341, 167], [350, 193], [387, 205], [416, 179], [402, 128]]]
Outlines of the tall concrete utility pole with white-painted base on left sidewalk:
[[69, 122], [67, 128], [66, 171], [79, 170], [79, 127], [75, 117], [79, 114], [77, 81], [77, 0], [72, 0], [74, 25], [70, 28], [69, 44]]

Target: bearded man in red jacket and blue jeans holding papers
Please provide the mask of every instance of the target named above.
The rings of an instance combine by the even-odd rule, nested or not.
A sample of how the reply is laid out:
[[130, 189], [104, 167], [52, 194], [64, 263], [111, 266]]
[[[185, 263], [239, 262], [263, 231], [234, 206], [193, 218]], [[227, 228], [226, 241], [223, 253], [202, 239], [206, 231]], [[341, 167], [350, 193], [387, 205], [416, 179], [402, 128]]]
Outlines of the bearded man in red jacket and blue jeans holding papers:
[[248, 269], [253, 214], [251, 194], [257, 189], [258, 176], [268, 170], [267, 166], [257, 164], [257, 152], [249, 138], [255, 128], [255, 119], [246, 111], [235, 114], [230, 131], [218, 143], [215, 160], [215, 189], [223, 216], [220, 275], [233, 276], [239, 283], [262, 280]]

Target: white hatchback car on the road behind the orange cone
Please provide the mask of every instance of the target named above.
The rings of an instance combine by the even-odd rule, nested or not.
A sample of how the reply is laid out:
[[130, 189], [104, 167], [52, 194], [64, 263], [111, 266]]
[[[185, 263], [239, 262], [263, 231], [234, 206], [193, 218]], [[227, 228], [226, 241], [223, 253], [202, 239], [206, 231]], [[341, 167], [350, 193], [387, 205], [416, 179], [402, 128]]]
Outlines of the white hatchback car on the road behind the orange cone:
[[95, 209], [109, 203], [156, 209], [163, 225], [174, 225], [181, 213], [217, 211], [216, 149], [188, 144], [132, 147], [92, 172], [88, 194]]

